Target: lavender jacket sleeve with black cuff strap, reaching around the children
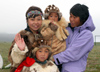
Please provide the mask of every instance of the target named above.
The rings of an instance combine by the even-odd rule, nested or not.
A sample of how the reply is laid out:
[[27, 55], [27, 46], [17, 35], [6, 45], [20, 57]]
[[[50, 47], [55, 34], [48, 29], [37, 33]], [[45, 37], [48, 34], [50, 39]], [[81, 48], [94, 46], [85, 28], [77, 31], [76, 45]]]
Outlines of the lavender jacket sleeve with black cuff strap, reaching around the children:
[[[66, 40], [67, 41], [67, 40]], [[54, 55], [57, 65], [79, 60], [86, 53], [89, 53], [94, 46], [93, 35], [90, 31], [81, 32], [65, 51]]]

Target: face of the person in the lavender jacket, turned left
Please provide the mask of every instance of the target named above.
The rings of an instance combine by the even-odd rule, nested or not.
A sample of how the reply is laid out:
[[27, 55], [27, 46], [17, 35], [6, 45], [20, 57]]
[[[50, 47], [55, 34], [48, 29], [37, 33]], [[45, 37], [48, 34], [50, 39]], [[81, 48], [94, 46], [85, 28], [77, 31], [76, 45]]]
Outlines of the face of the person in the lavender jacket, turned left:
[[69, 17], [71, 27], [78, 27], [81, 26], [80, 18], [78, 16], [74, 16], [72, 13], [70, 13]]

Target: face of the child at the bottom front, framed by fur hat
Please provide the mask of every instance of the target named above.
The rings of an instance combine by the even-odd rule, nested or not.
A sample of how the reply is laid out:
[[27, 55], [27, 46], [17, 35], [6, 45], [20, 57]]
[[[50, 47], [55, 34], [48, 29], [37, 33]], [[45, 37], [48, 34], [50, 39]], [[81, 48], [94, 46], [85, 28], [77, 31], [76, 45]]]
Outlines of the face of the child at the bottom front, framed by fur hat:
[[48, 56], [49, 56], [49, 50], [47, 48], [41, 48], [36, 52], [36, 58], [41, 62], [47, 60]]

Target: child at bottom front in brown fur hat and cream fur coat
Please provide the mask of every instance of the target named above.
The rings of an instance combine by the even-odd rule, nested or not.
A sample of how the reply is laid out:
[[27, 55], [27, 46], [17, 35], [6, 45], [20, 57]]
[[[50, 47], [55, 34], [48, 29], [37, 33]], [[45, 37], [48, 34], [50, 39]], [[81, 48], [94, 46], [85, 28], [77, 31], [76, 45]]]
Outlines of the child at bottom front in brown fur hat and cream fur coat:
[[[39, 39], [34, 44], [38, 46], [32, 50], [35, 63], [30, 67], [24, 66], [21, 72], [59, 72], [57, 66], [50, 60], [51, 47], [46, 45], [44, 39]], [[18, 72], [23, 62], [15, 72]]]

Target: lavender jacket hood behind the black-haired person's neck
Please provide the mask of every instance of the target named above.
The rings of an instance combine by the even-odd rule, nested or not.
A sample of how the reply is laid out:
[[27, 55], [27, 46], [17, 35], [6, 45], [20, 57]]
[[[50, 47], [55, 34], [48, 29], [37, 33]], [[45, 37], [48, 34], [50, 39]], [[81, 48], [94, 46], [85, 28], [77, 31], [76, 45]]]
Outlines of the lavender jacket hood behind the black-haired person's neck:
[[82, 31], [84, 29], [88, 29], [91, 32], [95, 30], [95, 26], [94, 26], [94, 23], [93, 23], [91, 15], [89, 15], [89, 17], [85, 21], [85, 23], [82, 26], [80, 26], [80, 31]]

